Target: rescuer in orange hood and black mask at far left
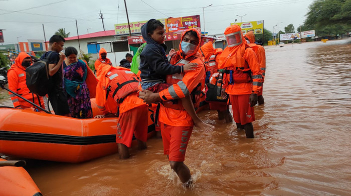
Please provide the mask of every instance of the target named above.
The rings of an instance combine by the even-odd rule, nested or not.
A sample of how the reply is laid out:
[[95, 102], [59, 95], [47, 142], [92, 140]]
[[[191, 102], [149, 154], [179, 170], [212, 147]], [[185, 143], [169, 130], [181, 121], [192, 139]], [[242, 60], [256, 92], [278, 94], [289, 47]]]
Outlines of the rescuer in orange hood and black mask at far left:
[[[8, 71], [9, 89], [20, 94], [24, 98], [36, 103], [45, 108], [43, 97], [31, 93], [26, 84], [26, 68], [32, 64], [32, 58], [26, 52], [20, 52], [15, 59], [15, 63]], [[14, 107], [18, 109], [25, 109], [34, 107], [31, 103], [9, 92]]]

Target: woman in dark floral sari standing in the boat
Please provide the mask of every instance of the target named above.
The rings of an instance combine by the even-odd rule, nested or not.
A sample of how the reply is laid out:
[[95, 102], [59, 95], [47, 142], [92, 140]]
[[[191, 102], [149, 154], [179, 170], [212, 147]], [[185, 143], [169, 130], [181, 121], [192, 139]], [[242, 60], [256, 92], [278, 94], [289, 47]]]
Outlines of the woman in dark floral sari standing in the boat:
[[68, 106], [72, 117], [92, 118], [89, 88], [85, 82], [87, 65], [77, 59], [77, 54], [78, 51], [74, 47], [67, 47], [65, 50], [67, 58], [63, 62], [63, 67]]

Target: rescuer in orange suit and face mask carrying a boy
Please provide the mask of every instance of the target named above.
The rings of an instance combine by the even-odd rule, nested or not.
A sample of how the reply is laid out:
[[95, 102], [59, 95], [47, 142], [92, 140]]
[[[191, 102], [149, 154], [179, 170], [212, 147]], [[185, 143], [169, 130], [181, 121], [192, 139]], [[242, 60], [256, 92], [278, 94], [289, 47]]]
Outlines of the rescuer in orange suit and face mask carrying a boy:
[[[200, 92], [204, 88], [205, 65], [198, 52], [201, 34], [196, 29], [188, 29], [182, 34], [180, 49], [174, 55], [169, 55], [169, 62], [173, 66], [186, 63], [198, 63], [195, 70], [166, 76], [166, 83], [172, 84], [160, 92], [142, 90], [139, 98], [146, 103], [162, 101], [159, 121], [161, 126], [163, 153], [167, 155], [170, 167], [178, 174], [183, 185], [188, 187], [192, 183], [191, 173], [184, 164], [185, 154], [194, 122], [182, 104], [167, 104], [183, 98], [188, 94], [195, 100], [195, 108], [200, 103]], [[171, 101], [169, 101], [171, 100]]]

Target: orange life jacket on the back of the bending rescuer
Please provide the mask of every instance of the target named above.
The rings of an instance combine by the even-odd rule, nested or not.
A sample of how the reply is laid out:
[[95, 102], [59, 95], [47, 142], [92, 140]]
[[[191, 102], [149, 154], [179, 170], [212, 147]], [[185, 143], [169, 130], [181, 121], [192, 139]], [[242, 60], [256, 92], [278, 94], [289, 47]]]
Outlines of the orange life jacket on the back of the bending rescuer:
[[106, 99], [110, 95], [117, 103], [130, 93], [138, 90], [139, 79], [130, 70], [114, 69], [105, 75], [109, 79], [109, 85], [106, 88]]

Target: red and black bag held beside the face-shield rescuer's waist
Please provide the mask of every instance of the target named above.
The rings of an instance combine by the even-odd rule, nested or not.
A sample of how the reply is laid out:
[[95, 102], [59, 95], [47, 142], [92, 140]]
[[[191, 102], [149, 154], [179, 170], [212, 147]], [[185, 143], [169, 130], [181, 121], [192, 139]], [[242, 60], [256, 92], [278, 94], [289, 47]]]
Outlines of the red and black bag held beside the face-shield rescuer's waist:
[[[216, 79], [216, 82], [213, 82], [213, 79]], [[222, 98], [221, 91], [223, 85], [223, 71], [214, 73], [210, 79], [210, 83], [206, 86], [206, 97], [207, 102], [227, 102], [228, 96], [226, 99]], [[213, 84], [215, 83], [215, 84]]]

